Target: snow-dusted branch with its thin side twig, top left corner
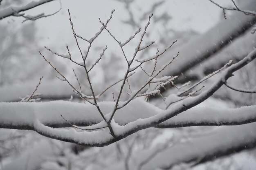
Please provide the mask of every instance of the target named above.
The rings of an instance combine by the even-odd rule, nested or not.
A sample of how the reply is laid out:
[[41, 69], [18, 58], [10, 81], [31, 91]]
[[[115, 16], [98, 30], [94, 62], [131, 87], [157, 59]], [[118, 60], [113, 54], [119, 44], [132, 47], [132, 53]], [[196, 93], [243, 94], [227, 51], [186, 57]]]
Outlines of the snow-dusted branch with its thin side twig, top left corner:
[[44, 17], [54, 15], [54, 14], [58, 13], [61, 10], [61, 7], [58, 11], [56, 11], [55, 13], [49, 14], [49, 15], [45, 15], [44, 13], [41, 13], [41, 14], [38, 14], [38, 15], [35, 15], [35, 16], [25, 15], [24, 13], [20, 14], [20, 12], [27, 11], [29, 9], [38, 7], [42, 4], [45, 4], [45, 3], [51, 2], [51, 1], [54, 1], [54, 0], [32, 1], [32, 2], [29, 2], [28, 4], [26, 4], [22, 7], [8, 7], [7, 9], [3, 9], [3, 10], [0, 11], [0, 20], [2, 20], [3, 18], [7, 18], [9, 16], [21, 16], [21, 17], [25, 18], [24, 21], [27, 21], [27, 20], [37, 20], [39, 18], [44, 18]]

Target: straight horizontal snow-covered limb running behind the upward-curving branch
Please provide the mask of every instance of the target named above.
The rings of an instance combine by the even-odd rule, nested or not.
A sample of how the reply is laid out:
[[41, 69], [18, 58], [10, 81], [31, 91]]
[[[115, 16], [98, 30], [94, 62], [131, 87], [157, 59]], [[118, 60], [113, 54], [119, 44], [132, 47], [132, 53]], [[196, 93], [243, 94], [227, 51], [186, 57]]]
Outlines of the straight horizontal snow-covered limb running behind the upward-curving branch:
[[[99, 103], [99, 106], [102, 108], [103, 113], [106, 114], [111, 112], [112, 108], [115, 106], [115, 102], [101, 102]], [[176, 117], [155, 125], [154, 127], [174, 128], [185, 126], [248, 124], [256, 121], [255, 110], [256, 106], [245, 106], [236, 109], [191, 108]], [[158, 115], [162, 112], [164, 112], [164, 110], [160, 110], [143, 100], [135, 99], [123, 110], [118, 110], [114, 119], [120, 126], [124, 126], [129, 122], [139, 121], [139, 119], [143, 121], [143, 119]], [[65, 119], [67, 119], [71, 124], [76, 126], [89, 126], [88, 128], [91, 128], [90, 126], [93, 124], [103, 122], [102, 117], [98, 114], [97, 108], [90, 104], [79, 104], [64, 101], [33, 104], [24, 102], [0, 103], [0, 128], [36, 130], [35, 128], [38, 128], [38, 126], [43, 127], [43, 124], [47, 126], [43, 127], [43, 129], [48, 128], [49, 130], [54, 130], [54, 128], [60, 127], [70, 127], [70, 124], [68, 124], [60, 115], [63, 115], [63, 117], [65, 117]], [[94, 126], [94, 128], [95, 127], [96, 126]], [[64, 129], [59, 130], [61, 131]], [[73, 129], [72, 131], [75, 132], [76, 130]], [[99, 133], [102, 133], [101, 131], [103, 130], [99, 131], [100, 132], [94, 132], [94, 134], [100, 135]], [[45, 132], [47, 132], [47, 130]], [[104, 132], [106, 132], [106, 129]], [[89, 134], [89, 132], [86, 132], [86, 134], [83, 132], [76, 133], [81, 136]], [[71, 136], [72, 139], [73, 137]], [[83, 140], [81, 140], [81, 142], [82, 141]], [[110, 143], [112, 142], [114, 141], [110, 141]], [[76, 143], [79, 143], [79, 141], [76, 141]], [[106, 145], [110, 143], [104, 144]], [[90, 145], [90, 143], [87, 144]]]

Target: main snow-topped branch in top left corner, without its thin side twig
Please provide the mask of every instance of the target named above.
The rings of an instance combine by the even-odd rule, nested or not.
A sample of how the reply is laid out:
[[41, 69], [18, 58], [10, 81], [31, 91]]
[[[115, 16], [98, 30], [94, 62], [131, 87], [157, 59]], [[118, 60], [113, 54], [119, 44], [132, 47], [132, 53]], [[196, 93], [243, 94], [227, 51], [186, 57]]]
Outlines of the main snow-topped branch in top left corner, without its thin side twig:
[[0, 20], [2, 20], [3, 18], [9, 17], [11, 15], [17, 15], [18, 13], [20, 13], [22, 11], [27, 11], [29, 9], [38, 7], [42, 4], [45, 4], [45, 3], [51, 2], [51, 1], [54, 1], [54, 0], [39, 0], [37, 2], [32, 1], [22, 7], [8, 7], [7, 9], [3, 9], [2, 11], [0, 11]]

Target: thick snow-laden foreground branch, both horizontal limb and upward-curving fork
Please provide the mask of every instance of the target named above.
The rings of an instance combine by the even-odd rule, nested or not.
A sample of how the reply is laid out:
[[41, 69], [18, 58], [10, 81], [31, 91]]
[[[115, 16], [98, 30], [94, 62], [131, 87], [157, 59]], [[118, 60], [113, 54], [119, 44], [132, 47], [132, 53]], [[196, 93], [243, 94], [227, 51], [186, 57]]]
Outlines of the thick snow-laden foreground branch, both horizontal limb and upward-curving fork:
[[[1, 103], [0, 127], [31, 129], [41, 135], [51, 137], [53, 139], [86, 146], [105, 146], [149, 127], [159, 126], [159, 128], [169, 128], [183, 125], [220, 126], [251, 123], [256, 120], [255, 106], [247, 106], [239, 109], [205, 108], [205, 110], [200, 109], [200, 111], [199, 108], [194, 109], [193, 107], [213, 95], [213, 93], [225, 84], [225, 81], [232, 76], [233, 72], [247, 65], [255, 58], [256, 49], [249, 53], [249, 55], [240, 62], [227, 68], [222, 73], [218, 81], [209, 89], [196, 97], [184, 99], [182, 103], [178, 103], [168, 110], [161, 110], [140, 99], [129, 102], [125, 108], [117, 110], [115, 117], [113, 117], [113, 120], [110, 122], [112, 130], [115, 132], [115, 137], [110, 135], [111, 132], [109, 128], [102, 128], [100, 130], [90, 132], [78, 131], [75, 128], [54, 128], [64, 125], [66, 127], [69, 125], [62, 119], [62, 117], [59, 116], [60, 114], [63, 115], [67, 121], [76, 126], [90, 126], [93, 124], [100, 124], [105, 121], [103, 117], [96, 114], [97, 108], [93, 105], [63, 101], [34, 104], [23, 102]], [[122, 104], [122, 102], [120, 102], [120, 104]], [[104, 113], [104, 117], [110, 117], [112, 114], [112, 108], [115, 106], [115, 102], [99, 102], [99, 106], [101, 107], [102, 113]], [[197, 116], [191, 113], [193, 111]], [[194, 118], [190, 117], [190, 115], [193, 115]], [[180, 121], [178, 121], [178, 119], [180, 119]]]

